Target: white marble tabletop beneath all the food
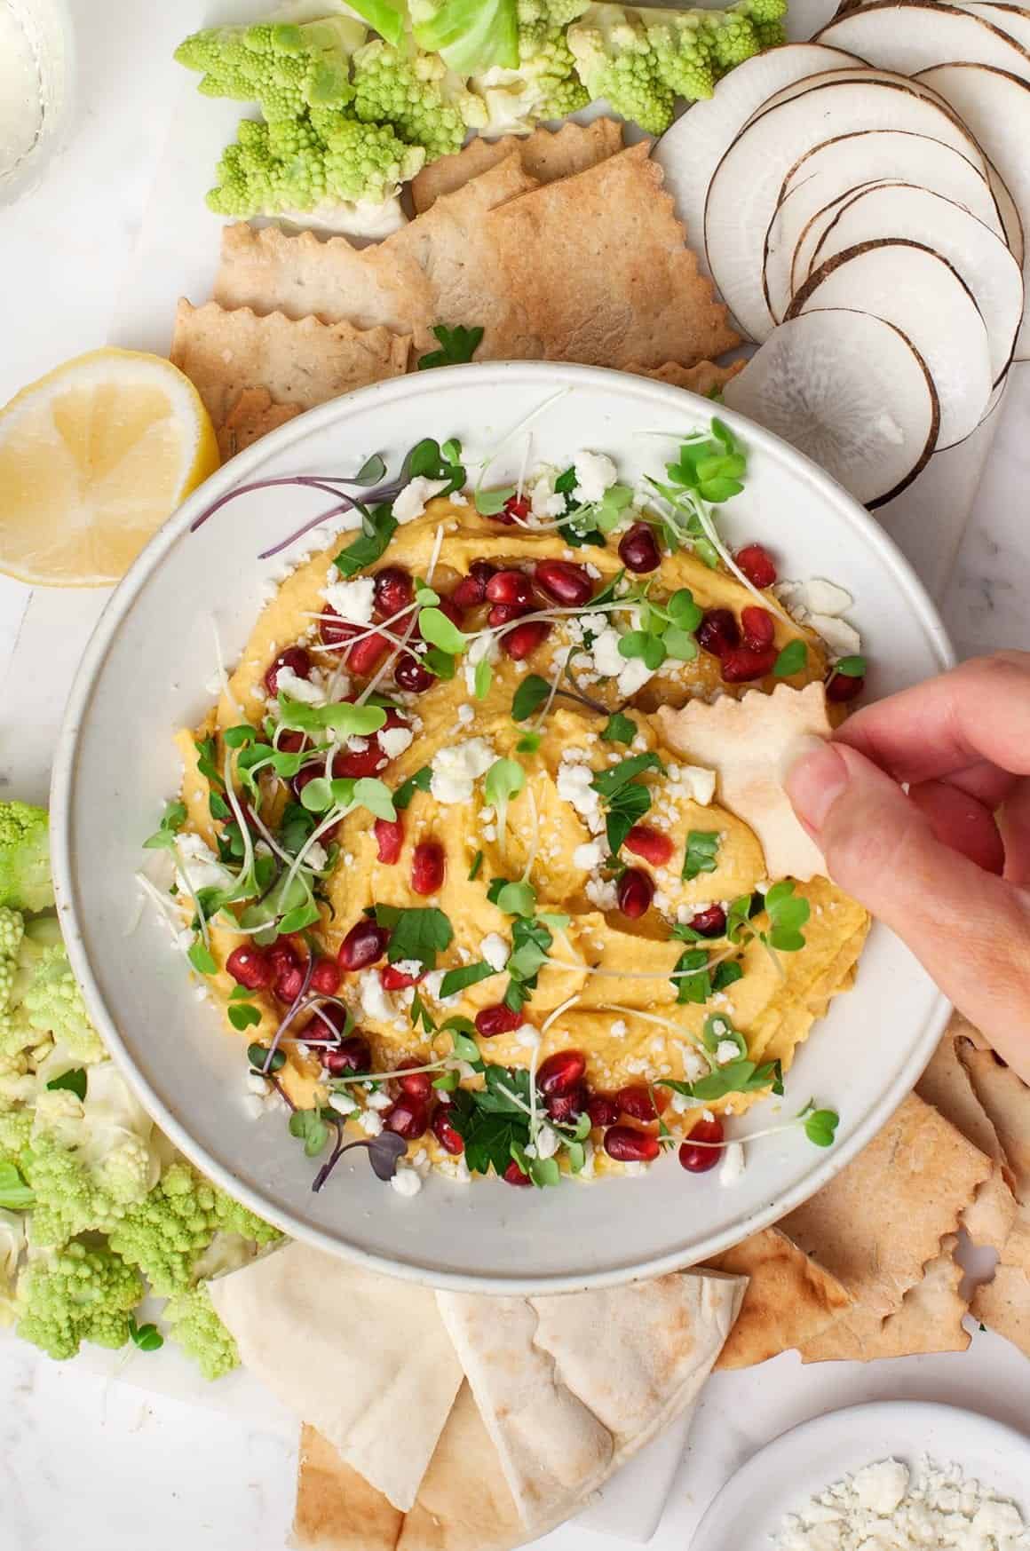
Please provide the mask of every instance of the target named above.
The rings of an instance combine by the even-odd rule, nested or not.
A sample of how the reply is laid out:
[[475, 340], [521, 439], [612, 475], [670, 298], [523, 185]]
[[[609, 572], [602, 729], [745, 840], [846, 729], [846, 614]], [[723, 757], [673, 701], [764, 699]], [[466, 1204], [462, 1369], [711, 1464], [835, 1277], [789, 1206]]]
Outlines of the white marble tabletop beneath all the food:
[[[149, 191], [158, 166], [175, 157], [180, 84], [171, 50], [205, 16], [202, 0], [71, 0], [71, 8], [81, 62], [73, 143], [36, 195], [0, 209], [0, 402], [56, 361], [102, 343], [124, 320], [123, 290]], [[149, 231], [155, 216], [146, 220]], [[126, 338], [123, 321], [118, 343], [150, 341]], [[1022, 368], [949, 575], [935, 557], [934, 580], [960, 656], [1030, 648], [1028, 416], [1030, 369]], [[915, 535], [915, 548], [931, 555], [932, 532]], [[25, 620], [19, 670], [5, 679], [26, 594], [0, 579], [0, 788], [45, 799], [53, 727], [99, 602], [67, 592], [39, 599]], [[256, 1388], [242, 1397], [226, 1391], [222, 1402], [211, 1396], [206, 1405], [138, 1388], [175, 1390], [171, 1368], [160, 1377], [147, 1368], [157, 1362], [163, 1357], [115, 1363], [112, 1377], [110, 1363], [102, 1371], [54, 1365], [33, 1348], [0, 1342], [0, 1551], [282, 1551], [293, 1503], [290, 1419]], [[802, 1368], [786, 1354], [751, 1373], [721, 1374], [704, 1391], [653, 1545], [686, 1551], [723, 1480], [785, 1427], [892, 1396], [963, 1404], [1025, 1425], [1030, 1363], [974, 1332], [959, 1356]], [[614, 1543], [566, 1525], [540, 1545], [603, 1551]]]

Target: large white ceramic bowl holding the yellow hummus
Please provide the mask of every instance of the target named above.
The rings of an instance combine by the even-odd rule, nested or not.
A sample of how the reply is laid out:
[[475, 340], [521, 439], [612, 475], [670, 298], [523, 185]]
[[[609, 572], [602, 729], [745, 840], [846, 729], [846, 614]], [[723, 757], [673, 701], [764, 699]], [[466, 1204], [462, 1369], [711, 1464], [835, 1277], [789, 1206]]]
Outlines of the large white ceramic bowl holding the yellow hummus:
[[[447, 1287], [565, 1290], [628, 1281], [706, 1258], [774, 1222], [830, 1179], [886, 1121], [928, 1061], [946, 1007], [909, 952], [870, 934], [856, 988], [835, 1000], [804, 1047], [782, 1101], [810, 1095], [841, 1112], [828, 1151], [794, 1129], [757, 1142], [743, 1177], [718, 1183], [664, 1159], [645, 1177], [518, 1191], [499, 1182], [431, 1179], [414, 1200], [385, 1188], [358, 1157], [312, 1194], [312, 1163], [281, 1115], [250, 1120], [240, 1103], [244, 1055], [216, 1010], [197, 999], [166, 926], [137, 915], [140, 842], [178, 786], [172, 732], [194, 726], [211, 696], [213, 616], [230, 661], [281, 561], [258, 552], [315, 515], [326, 498], [290, 487], [189, 524], [237, 482], [282, 473], [341, 475], [382, 451], [391, 470], [423, 436], [458, 436], [472, 453], [555, 389], [532, 425], [534, 462], [565, 465], [605, 451], [624, 478], [661, 468], [675, 437], [707, 425], [712, 405], [644, 378], [577, 366], [459, 366], [366, 388], [290, 422], [233, 459], [164, 526], [112, 597], [68, 701], [53, 783], [54, 876], [68, 952], [98, 1028], [164, 1131], [213, 1179], [289, 1233], [369, 1267]], [[737, 546], [763, 540], [780, 575], [833, 577], [855, 594], [852, 617], [884, 695], [949, 662], [942, 624], [867, 513], [805, 458], [737, 416], [749, 453], [745, 493], [721, 509]], [[513, 482], [524, 434], [507, 444], [490, 482]]]

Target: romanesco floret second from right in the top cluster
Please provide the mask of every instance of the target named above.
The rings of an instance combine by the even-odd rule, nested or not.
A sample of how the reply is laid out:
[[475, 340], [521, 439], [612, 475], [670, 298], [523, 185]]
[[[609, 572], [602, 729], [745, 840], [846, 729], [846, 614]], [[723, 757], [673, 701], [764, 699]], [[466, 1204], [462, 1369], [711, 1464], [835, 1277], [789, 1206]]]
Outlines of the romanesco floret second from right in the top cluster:
[[675, 92], [659, 74], [658, 54], [636, 12], [593, 5], [566, 37], [591, 98], [607, 98], [616, 113], [650, 135], [669, 129]]

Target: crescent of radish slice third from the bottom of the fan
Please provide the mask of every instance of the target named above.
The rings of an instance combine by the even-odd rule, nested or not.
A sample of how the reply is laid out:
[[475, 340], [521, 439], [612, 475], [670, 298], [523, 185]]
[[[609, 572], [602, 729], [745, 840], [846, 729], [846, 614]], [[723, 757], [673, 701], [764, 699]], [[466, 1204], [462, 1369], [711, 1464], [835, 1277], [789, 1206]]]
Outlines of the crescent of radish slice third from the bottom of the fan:
[[884, 183], [861, 189], [841, 206], [814, 251], [813, 268], [875, 237], [911, 237], [946, 259], [980, 310], [999, 383], [1013, 358], [1022, 323], [1022, 270], [982, 220], [929, 189]]

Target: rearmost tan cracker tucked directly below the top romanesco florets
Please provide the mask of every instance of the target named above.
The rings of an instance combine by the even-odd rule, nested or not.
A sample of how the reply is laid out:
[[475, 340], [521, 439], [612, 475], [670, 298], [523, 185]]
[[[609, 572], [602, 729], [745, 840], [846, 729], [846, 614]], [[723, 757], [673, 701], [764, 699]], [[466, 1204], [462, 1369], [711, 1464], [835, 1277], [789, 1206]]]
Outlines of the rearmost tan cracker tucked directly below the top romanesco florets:
[[596, 118], [593, 124], [563, 124], [558, 130], [535, 129], [532, 135], [504, 135], [484, 140], [476, 135], [451, 157], [437, 157], [414, 178], [411, 197], [416, 214], [427, 211], [441, 194], [453, 194], [506, 157], [517, 155], [531, 178], [554, 183], [596, 166], [622, 150], [622, 124]]

